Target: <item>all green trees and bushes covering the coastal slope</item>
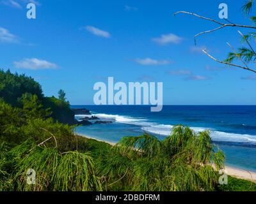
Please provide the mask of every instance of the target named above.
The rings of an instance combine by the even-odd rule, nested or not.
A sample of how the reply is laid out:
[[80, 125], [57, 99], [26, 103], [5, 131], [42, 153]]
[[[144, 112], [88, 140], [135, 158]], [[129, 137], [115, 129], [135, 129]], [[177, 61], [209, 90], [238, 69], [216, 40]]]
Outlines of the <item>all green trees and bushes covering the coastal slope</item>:
[[[1, 71], [1, 76], [11, 78], [13, 87], [26, 83], [25, 79], [36, 84], [10, 71]], [[1, 87], [4, 84], [8, 80]], [[112, 147], [77, 136], [74, 126], [58, 121], [70, 112], [65, 92], [56, 99], [45, 98], [42, 91], [37, 95], [20, 90], [14, 96], [7, 86], [1, 89], [0, 191], [248, 190], [247, 181], [232, 177], [228, 186], [218, 185], [225, 156], [215, 150], [209, 131], [196, 134], [176, 126], [163, 141], [144, 134], [125, 137]], [[15, 103], [8, 103], [10, 98]], [[35, 185], [27, 183], [31, 169], [36, 173]]]

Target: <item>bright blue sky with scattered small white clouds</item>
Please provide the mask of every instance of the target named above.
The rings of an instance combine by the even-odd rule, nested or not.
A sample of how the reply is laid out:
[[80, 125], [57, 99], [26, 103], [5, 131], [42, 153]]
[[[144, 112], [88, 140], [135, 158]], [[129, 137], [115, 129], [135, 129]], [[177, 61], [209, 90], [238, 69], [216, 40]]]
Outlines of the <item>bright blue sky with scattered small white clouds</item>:
[[[218, 18], [228, 5], [228, 19], [250, 24], [241, 13], [244, 1], [43, 1], [36, 19], [26, 18], [29, 0], [0, 0], [0, 67], [26, 73], [45, 96], [67, 92], [72, 105], [93, 104], [93, 85], [115, 82], [163, 82], [168, 105], [255, 105], [256, 75], [229, 68], [200, 52], [225, 59], [239, 46], [240, 28], [198, 37], [217, 25], [175, 11]], [[245, 33], [245, 31], [244, 31]]]

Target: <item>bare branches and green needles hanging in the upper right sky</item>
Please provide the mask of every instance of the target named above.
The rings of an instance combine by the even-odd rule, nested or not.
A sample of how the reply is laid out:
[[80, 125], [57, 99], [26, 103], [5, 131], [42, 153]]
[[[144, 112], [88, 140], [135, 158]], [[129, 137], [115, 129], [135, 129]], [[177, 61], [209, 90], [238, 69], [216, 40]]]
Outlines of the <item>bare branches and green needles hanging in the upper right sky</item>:
[[[252, 11], [252, 7], [254, 4], [254, 0], [247, 0], [246, 4], [244, 4], [242, 6], [242, 10], [243, 13], [246, 15], [249, 15]], [[220, 29], [223, 29], [225, 27], [241, 27], [241, 28], [246, 28], [246, 29], [256, 29], [256, 27], [254, 25], [240, 25], [240, 24], [234, 24], [232, 22], [230, 22], [229, 20], [225, 19], [228, 23], [223, 23], [220, 22], [218, 20], [214, 20], [212, 18], [208, 18], [208, 17], [204, 17], [201, 15], [198, 15], [196, 13], [191, 13], [188, 11], [178, 11], [176, 13], [174, 13], [174, 15], [177, 15], [179, 13], [185, 13], [187, 15], [193, 15], [195, 17], [204, 19], [204, 20], [208, 20], [211, 22], [214, 22], [216, 24], [219, 25], [219, 27], [216, 27], [215, 29], [211, 29], [209, 31], [204, 31], [201, 33], [198, 33], [195, 35], [195, 44], [196, 44], [196, 38], [202, 34], [207, 34], [207, 33], [212, 33], [214, 31], [218, 31]], [[253, 24], [256, 24], [256, 16], [252, 16], [250, 17], [250, 20], [252, 20]], [[252, 40], [256, 39], [256, 33], [255, 32], [250, 32], [248, 34], [243, 34], [241, 33], [241, 31], [238, 31], [238, 33], [241, 35], [242, 40], [244, 41], [244, 43], [246, 43], [246, 46], [242, 46], [240, 48], [238, 48], [238, 50], [236, 51], [234, 47], [232, 47], [232, 45], [230, 45], [230, 43], [227, 43], [228, 46], [231, 48], [232, 52], [230, 52], [228, 54], [227, 59], [225, 59], [225, 61], [221, 61], [219, 59], [216, 59], [215, 57], [213, 57], [212, 55], [210, 55], [206, 49], [202, 50], [202, 52], [204, 52], [208, 57], [210, 57], [212, 60], [219, 62], [221, 64], [227, 64], [229, 66], [234, 66], [236, 68], [242, 68], [242, 69], [246, 69], [248, 71], [252, 71], [253, 73], [256, 73], [256, 69], [255, 68], [251, 68], [251, 66], [255, 66], [255, 61], [256, 61], [256, 52], [255, 49], [252, 46]], [[240, 64], [234, 63], [234, 61], [240, 61]]]

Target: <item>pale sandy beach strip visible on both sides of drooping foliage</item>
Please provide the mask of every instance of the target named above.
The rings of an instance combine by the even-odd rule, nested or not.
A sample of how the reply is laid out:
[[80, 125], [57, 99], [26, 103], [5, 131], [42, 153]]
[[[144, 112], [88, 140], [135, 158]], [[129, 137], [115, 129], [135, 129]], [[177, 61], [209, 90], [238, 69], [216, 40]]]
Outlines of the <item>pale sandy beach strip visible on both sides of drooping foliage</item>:
[[[84, 136], [84, 137], [89, 138], [89, 139], [97, 140], [99, 142], [105, 142], [105, 143], [108, 143], [109, 145], [112, 145], [112, 146], [114, 146], [116, 144], [115, 142], [109, 142], [107, 140], [100, 140], [98, 138], [94, 138], [93, 136], [81, 135], [81, 134], [79, 134], [79, 135]], [[230, 175], [232, 177], [236, 177], [237, 179], [250, 180], [250, 181], [256, 183], [256, 172], [247, 171], [247, 170], [243, 170], [243, 169], [235, 168], [235, 167], [230, 167], [230, 166], [225, 166], [224, 171], [227, 173], [227, 175]]]

